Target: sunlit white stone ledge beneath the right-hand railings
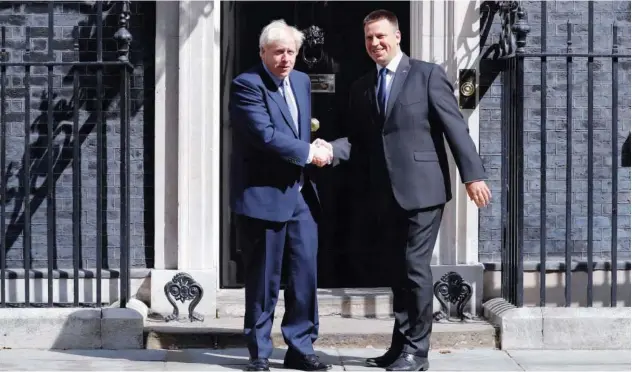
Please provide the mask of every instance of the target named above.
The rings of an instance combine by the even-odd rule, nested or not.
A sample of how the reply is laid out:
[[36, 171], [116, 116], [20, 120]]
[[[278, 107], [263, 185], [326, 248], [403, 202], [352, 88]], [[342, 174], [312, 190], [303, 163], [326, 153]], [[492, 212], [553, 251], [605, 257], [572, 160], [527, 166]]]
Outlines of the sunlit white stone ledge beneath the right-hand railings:
[[522, 307], [502, 298], [483, 304], [503, 350], [630, 349], [629, 307]]

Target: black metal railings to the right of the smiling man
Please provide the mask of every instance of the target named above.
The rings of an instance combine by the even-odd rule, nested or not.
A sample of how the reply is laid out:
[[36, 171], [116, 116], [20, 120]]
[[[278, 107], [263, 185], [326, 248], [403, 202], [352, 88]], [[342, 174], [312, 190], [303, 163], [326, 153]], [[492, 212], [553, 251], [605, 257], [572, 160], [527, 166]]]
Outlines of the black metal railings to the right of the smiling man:
[[[541, 50], [540, 52], [528, 51], [526, 48], [527, 35], [530, 26], [527, 23], [526, 12], [517, 1], [496, 2], [498, 13], [501, 16], [502, 35], [500, 49], [503, 51], [501, 60], [503, 70], [502, 79], [502, 172], [501, 172], [501, 192], [502, 192], [502, 297], [516, 306], [523, 306], [524, 303], [524, 182], [525, 182], [525, 62], [539, 62], [540, 67], [540, 262], [538, 265], [539, 285], [540, 285], [540, 306], [546, 304], [546, 272], [547, 272], [547, 85], [549, 75], [547, 66], [552, 61], [562, 60], [565, 62], [566, 75], [566, 169], [565, 169], [565, 244], [564, 268], [565, 279], [565, 306], [570, 306], [573, 299], [571, 293], [572, 279], [572, 205], [573, 205], [573, 105], [574, 94], [581, 88], [574, 81], [575, 72], [573, 66], [578, 61], [587, 66], [587, 263], [577, 265], [577, 270], [585, 271], [588, 277], [586, 289], [587, 306], [593, 306], [593, 244], [594, 244], [594, 197], [595, 190], [593, 183], [596, 180], [594, 172], [594, 65], [596, 60], [611, 64], [611, 262], [606, 265], [610, 270], [610, 306], [617, 304], [617, 242], [618, 242], [618, 97], [619, 97], [619, 63], [622, 59], [630, 59], [629, 54], [619, 52], [618, 36], [619, 30], [616, 21], [612, 23], [612, 48], [609, 53], [594, 52], [594, 2], [588, 3], [588, 24], [585, 25], [588, 31], [588, 52], [573, 52], [573, 25], [568, 22], [567, 30], [567, 50], [564, 52], [550, 52], [547, 50], [547, 2], [541, 2]], [[582, 72], [583, 73], [583, 72]], [[627, 82], [629, 83], [629, 82]], [[597, 178], [598, 179], [598, 178]]]

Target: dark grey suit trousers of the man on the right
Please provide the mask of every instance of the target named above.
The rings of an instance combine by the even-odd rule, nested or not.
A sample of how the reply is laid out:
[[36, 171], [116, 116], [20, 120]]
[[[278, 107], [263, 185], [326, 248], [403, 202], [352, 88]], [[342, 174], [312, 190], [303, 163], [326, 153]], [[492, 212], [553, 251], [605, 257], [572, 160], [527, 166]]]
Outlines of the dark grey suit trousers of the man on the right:
[[381, 193], [378, 200], [380, 231], [384, 232], [381, 246], [392, 252], [389, 271], [395, 324], [391, 348], [427, 357], [433, 321], [430, 262], [444, 205], [406, 211], [392, 192]]

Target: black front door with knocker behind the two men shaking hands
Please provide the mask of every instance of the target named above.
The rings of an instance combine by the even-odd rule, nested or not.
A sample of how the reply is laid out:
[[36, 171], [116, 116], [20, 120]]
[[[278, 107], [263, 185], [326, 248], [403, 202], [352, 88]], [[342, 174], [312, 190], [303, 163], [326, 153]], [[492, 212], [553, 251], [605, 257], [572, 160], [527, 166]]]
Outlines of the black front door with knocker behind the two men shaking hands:
[[[259, 63], [258, 43], [263, 27], [275, 19], [284, 19], [306, 34], [299, 53], [296, 69], [312, 76], [312, 117], [320, 122], [314, 138], [334, 140], [346, 134], [348, 91], [351, 83], [375, 64], [364, 47], [364, 17], [376, 9], [388, 9], [399, 18], [402, 32], [402, 50], [409, 53], [410, 3], [404, 1], [296, 1], [296, 2], [234, 2], [225, 4], [222, 12], [222, 71], [224, 87], [237, 74]], [[232, 48], [232, 49], [231, 49]], [[228, 104], [224, 96], [222, 105]], [[223, 175], [230, 166], [230, 138], [227, 116], [224, 115]], [[350, 232], [350, 189], [352, 179], [346, 164], [323, 168], [314, 172], [318, 184], [323, 216], [319, 224], [318, 282], [320, 288], [384, 286], [379, 276], [363, 274], [358, 277], [348, 270], [350, 261], [369, 264], [379, 260], [372, 254], [351, 253], [348, 249]], [[224, 176], [224, 177], [225, 177]], [[222, 183], [228, 185], [224, 178]], [[227, 193], [224, 188], [224, 194]], [[224, 199], [227, 195], [223, 196]], [[239, 239], [232, 227], [230, 211], [224, 203], [222, 237], [222, 286], [241, 287], [243, 283]], [[371, 251], [368, 250], [367, 253]], [[357, 250], [356, 250], [357, 252]], [[371, 265], [368, 265], [371, 266]]]

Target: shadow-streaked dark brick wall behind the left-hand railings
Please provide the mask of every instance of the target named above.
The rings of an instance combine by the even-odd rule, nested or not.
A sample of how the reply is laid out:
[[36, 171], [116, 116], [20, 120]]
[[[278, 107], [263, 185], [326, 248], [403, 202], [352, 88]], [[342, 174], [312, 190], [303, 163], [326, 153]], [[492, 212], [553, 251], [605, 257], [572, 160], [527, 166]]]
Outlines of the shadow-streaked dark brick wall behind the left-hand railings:
[[[107, 2], [104, 2], [107, 3]], [[118, 3], [118, 2], [112, 2]], [[118, 6], [109, 9], [104, 5], [105, 28], [103, 35], [105, 60], [116, 58], [116, 42], [112, 39], [118, 28]], [[134, 37], [131, 60], [135, 66], [132, 78], [132, 120], [131, 120], [131, 261], [135, 267], [151, 266], [145, 259], [153, 258], [153, 221], [151, 159], [152, 137], [151, 115], [153, 108], [147, 95], [153, 94], [153, 4], [133, 2], [130, 32]], [[151, 23], [151, 24], [150, 24]], [[31, 26], [33, 59], [46, 60], [48, 47], [52, 46], [56, 61], [73, 60], [74, 26], [81, 26], [81, 60], [96, 57], [96, 5], [91, 2], [54, 2], [54, 41], [48, 45], [48, 4], [46, 2], [3, 2], [0, 4], [0, 26], [6, 26], [7, 49], [11, 61], [22, 61], [25, 49], [25, 28]], [[45, 268], [47, 265], [47, 234], [54, 236], [56, 264], [59, 268], [72, 267], [73, 222], [72, 222], [72, 106], [65, 106], [71, 99], [73, 72], [70, 66], [55, 67], [53, 86], [55, 96], [55, 136], [53, 161], [55, 164], [55, 193], [53, 227], [47, 225], [46, 179], [48, 167], [47, 138], [47, 68], [31, 68], [30, 156], [31, 169], [31, 265]], [[82, 68], [80, 85], [85, 88], [85, 97], [93, 97], [96, 89], [94, 69]], [[147, 75], [145, 75], [147, 72]], [[120, 125], [119, 125], [119, 75], [117, 69], [107, 69], [104, 73], [106, 118], [104, 162], [106, 180], [106, 200], [104, 200], [104, 235], [96, 234], [96, 101], [81, 99], [79, 124], [81, 144], [81, 228], [82, 259], [84, 268], [94, 268], [97, 239], [101, 239], [105, 249], [103, 255], [106, 267], [119, 266], [119, 203], [120, 203]], [[23, 265], [23, 195], [21, 183], [24, 159], [25, 84], [23, 68], [7, 69], [7, 149], [5, 174], [7, 175], [7, 204], [5, 221], [7, 224], [7, 266], [21, 268]], [[145, 125], [149, 123], [150, 125]]]

